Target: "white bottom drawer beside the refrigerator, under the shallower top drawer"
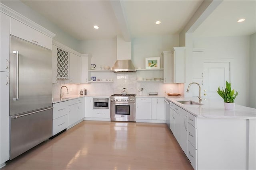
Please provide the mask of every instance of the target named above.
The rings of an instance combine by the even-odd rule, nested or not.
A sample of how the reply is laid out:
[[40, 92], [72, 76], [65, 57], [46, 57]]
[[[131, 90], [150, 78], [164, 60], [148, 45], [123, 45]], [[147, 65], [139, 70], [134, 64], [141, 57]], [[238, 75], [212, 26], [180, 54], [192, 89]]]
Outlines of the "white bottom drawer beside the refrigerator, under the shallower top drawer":
[[68, 115], [64, 115], [52, 121], [52, 136], [68, 127]]

